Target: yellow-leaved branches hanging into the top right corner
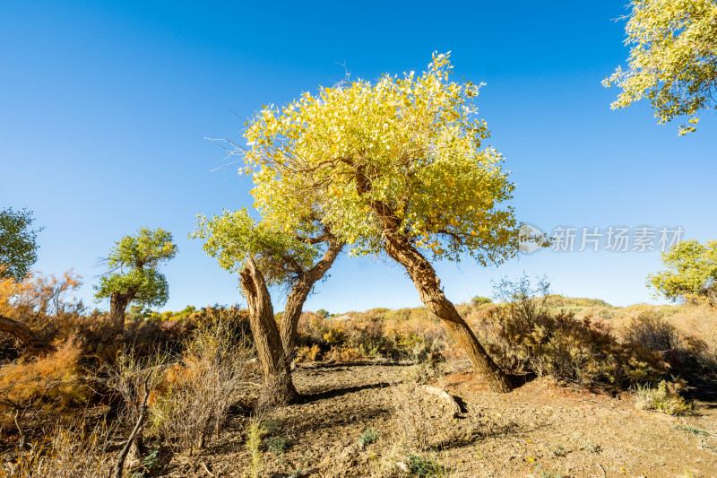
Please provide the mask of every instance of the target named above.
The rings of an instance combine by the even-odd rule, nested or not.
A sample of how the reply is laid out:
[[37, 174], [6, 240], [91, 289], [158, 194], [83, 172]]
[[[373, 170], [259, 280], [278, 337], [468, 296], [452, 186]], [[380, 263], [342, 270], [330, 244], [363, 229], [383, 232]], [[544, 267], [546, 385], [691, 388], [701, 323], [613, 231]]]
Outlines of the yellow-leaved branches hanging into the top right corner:
[[717, 108], [717, 2], [633, 0], [626, 17], [629, 68], [603, 80], [622, 92], [612, 108], [646, 98], [661, 125], [687, 116], [679, 134], [695, 131], [701, 110]]

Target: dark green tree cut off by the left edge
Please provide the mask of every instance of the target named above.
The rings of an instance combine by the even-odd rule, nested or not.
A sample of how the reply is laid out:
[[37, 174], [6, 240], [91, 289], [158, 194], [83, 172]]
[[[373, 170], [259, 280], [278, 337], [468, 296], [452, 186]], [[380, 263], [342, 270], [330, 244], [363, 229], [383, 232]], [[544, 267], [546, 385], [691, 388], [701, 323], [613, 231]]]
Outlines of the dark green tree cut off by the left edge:
[[0, 211], [0, 278], [12, 277], [21, 282], [38, 260], [38, 232], [30, 226], [35, 218], [31, 211]]

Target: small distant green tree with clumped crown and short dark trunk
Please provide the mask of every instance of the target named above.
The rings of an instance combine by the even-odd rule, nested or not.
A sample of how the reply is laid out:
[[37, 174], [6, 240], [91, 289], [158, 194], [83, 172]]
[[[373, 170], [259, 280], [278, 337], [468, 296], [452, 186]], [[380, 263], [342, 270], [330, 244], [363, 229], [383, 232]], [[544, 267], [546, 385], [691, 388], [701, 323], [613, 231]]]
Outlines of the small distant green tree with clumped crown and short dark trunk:
[[157, 268], [176, 254], [172, 234], [163, 229], [142, 228], [115, 243], [107, 258], [110, 271], [99, 278], [94, 289], [97, 300], [109, 298], [109, 320], [116, 333], [124, 330], [130, 302], [148, 307], [167, 303], [167, 279]]

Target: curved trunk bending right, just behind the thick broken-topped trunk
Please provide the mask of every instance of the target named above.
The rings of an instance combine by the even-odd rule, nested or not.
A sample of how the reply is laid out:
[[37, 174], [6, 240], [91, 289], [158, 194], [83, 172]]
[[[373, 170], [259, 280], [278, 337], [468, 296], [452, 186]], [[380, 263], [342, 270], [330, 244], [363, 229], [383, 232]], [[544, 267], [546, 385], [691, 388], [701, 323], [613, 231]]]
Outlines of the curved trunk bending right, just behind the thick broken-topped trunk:
[[312, 267], [306, 274], [303, 274], [299, 280], [291, 288], [289, 296], [287, 296], [284, 314], [281, 316], [281, 343], [284, 347], [284, 355], [289, 361], [294, 358], [294, 349], [297, 344], [297, 326], [298, 319], [301, 317], [301, 311], [304, 302], [307, 301], [309, 292], [314, 284], [321, 280], [326, 274], [333, 261], [339, 256], [344, 243], [336, 239], [329, 240], [329, 248], [324, 252], [324, 257]]

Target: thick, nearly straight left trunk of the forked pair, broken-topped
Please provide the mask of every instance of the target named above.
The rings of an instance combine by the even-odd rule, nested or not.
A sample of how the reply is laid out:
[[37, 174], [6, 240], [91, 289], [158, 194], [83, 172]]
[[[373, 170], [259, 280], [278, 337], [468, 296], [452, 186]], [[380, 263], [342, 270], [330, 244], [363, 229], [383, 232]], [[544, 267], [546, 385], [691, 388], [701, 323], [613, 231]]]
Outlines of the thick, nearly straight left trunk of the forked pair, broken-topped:
[[291, 380], [289, 361], [284, 355], [279, 328], [274, 320], [272, 298], [254, 259], [239, 275], [249, 308], [249, 326], [256, 346], [256, 357], [262, 367], [266, 399], [271, 404], [290, 404], [298, 398]]

